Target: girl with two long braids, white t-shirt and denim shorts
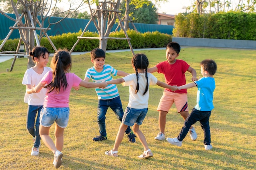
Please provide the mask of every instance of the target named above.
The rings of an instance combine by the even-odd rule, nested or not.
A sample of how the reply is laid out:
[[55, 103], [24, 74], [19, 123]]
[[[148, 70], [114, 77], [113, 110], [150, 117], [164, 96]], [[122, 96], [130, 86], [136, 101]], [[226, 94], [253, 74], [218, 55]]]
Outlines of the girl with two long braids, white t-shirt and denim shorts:
[[153, 157], [153, 153], [148, 148], [146, 138], [139, 130], [139, 126], [142, 124], [146, 114], [148, 112], [148, 86], [157, 84], [164, 88], [170, 88], [173, 91], [176, 89], [174, 86], [167, 85], [163, 82], [159, 82], [155, 76], [148, 73], [148, 58], [144, 54], [136, 54], [132, 57], [132, 67], [135, 74], [127, 75], [126, 77], [108, 81], [108, 84], [120, 84], [129, 87], [129, 103], [125, 110], [122, 123], [119, 127], [115, 145], [112, 150], [106, 151], [105, 154], [109, 156], [117, 157], [117, 150], [121, 141], [124, 138], [124, 130], [128, 126], [132, 126], [132, 130], [139, 138], [139, 141], [144, 147], [144, 152], [140, 156], [140, 159]]

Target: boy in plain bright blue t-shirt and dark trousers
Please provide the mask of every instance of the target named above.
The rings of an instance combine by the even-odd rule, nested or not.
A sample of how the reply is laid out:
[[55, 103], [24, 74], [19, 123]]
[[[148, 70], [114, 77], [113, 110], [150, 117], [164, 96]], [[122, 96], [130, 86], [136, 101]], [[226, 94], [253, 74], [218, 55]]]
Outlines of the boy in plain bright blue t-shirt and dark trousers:
[[203, 75], [201, 79], [193, 83], [177, 87], [177, 90], [197, 87], [197, 104], [193, 108], [190, 115], [186, 118], [184, 126], [180, 131], [180, 135], [175, 138], [166, 138], [166, 140], [170, 144], [182, 146], [182, 141], [189, 132], [189, 127], [195, 124], [195, 122], [200, 121], [201, 127], [204, 131], [204, 148], [205, 150], [211, 150], [212, 146], [209, 118], [211, 116], [211, 110], [214, 108], [213, 91], [215, 89], [215, 80], [213, 75], [216, 73], [217, 64], [213, 60], [207, 59], [203, 60], [200, 65], [201, 74]]

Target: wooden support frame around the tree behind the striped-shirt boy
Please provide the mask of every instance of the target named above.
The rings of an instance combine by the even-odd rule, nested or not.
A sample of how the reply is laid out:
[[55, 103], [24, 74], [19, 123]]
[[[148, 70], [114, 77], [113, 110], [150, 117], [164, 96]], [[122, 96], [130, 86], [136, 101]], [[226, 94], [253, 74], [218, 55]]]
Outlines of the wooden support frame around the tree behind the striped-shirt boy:
[[[110, 4], [110, 9], [103, 9], [103, 3], [108, 3]], [[132, 48], [132, 44], [130, 43], [130, 38], [128, 37], [127, 35], [127, 32], [126, 30], [124, 29], [124, 25], [120, 19], [120, 16], [119, 16], [119, 13], [121, 13], [121, 11], [118, 11], [116, 8], [115, 8], [115, 3], [114, 2], [99, 2], [100, 4], [100, 8], [99, 9], [94, 9], [95, 12], [91, 15], [91, 19], [89, 20], [89, 22], [87, 23], [87, 25], [85, 26], [85, 29], [83, 30], [81, 36], [78, 36], [78, 40], [76, 41], [76, 43], [74, 44], [74, 46], [72, 47], [72, 49], [70, 50], [70, 54], [72, 53], [72, 51], [75, 49], [76, 45], [79, 43], [79, 41], [81, 39], [99, 39], [100, 40], [100, 48], [102, 49], [102, 40], [104, 39], [117, 39], [117, 40], [127, 40], [128, 44], [129, 44], [129, 47], [130, 47], [130, 50], [132, 52], [132, 55], [135, 55], [134, 51], [133, 51], [133, 48]], [[83, 37], [83, 34], [85, 33], [86, 29], [88, 28], [90, 22], [92, 20], [94, 20], [94, 16], [96, 15], [97, 11], [101, 11], [101, 29], [100, 29], [100, 37]], [[119, 26], [120, 28], [124, 31], [124, 34], [126, 36], [126, 38], [114, 38], [114, 37], [103, 37], [103, 12], [104, 11], [108, 11], [108, 12], [113, 12], [115, 13], [115, 15], [117, 15], [117, 18], [118, 18], [118, 21], [119, 21]]]

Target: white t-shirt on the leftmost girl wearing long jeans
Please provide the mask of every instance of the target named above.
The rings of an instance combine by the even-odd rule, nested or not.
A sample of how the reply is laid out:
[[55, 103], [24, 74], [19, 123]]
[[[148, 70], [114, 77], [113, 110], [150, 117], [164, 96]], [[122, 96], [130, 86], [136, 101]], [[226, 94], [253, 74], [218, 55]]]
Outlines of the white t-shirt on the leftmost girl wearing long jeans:
[[[27, 85], [30, 84], [31, 87], [33, 85], [37, 85], [40, 83], [43, 76], [48, 72], [51, 71], [52, 68], [50, 67], [44, 67], [44, 71], [41, 74], [36, 73], [33, 68], [27, 69], [27, 71], [24, 74], [22, 84]], [[31, 106], [43, 106], [44, 98], [46, 94], [46, 89], [42, 88], [42, 90], [39, 93], [32, 93], [27, 94], [25, 93], [24, 102], [31, 105]]]

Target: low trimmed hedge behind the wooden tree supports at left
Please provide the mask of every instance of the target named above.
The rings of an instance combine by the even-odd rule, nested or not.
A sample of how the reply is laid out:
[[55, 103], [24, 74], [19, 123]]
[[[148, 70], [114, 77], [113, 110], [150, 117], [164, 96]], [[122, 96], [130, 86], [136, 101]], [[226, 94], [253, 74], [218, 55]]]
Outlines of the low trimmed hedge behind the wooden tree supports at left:
[[[77, 37], [80, 36], [81, 33], [81, 30], [78, 33], [63, 33], [62, 35], [50, 36], [50, 39], [57, 49], [65, 48], [67, 50], [71, 50], [73, 45], [78, 40]], [[133, 49], [166, 47], [166, 45], [172, 41], [172, 35], [159, 33], [158, 31], [137, 33], [135, 30], [128, 30], [127, 34], [128, 37], [131, 38], [130, 42]], [[83, 36], [99, 37], [98, 33], [89, 31], [86, 31]], [[125, 38], [125, 35], [123, 31], [117, 31], [110, 33], [109, 37]], [[2, 41], [3, 40], [1, 40], [0, 43], [2, 43]], [[19, 39], [7, 40], [1, 51], [16, 51], [18, 42]], [[55, 52], [47, 38], [42, 38], [40, 44], [41, 46], [45, 46], [50, 51], [50, 53]], [[98, 47], [98, 39], [80, 39], [73, 52], [91, 51], [92, 49]], [[129, 48], [130, 47], [127, 40], [108, 39], [107, 50]]]

